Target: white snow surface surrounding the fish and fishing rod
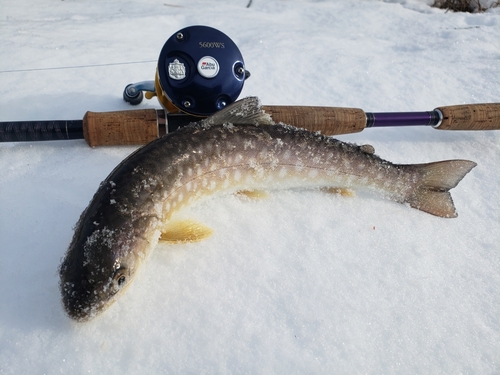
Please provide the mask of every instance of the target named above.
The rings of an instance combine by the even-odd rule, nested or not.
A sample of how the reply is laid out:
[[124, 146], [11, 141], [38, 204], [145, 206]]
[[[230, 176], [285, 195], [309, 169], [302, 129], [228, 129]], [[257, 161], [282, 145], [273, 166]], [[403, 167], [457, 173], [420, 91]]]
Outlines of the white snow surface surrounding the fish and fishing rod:
[[[1, 0], [0, 121], [130, 109], [125, 85], [153, 79], [166, 39], [194, 24], [236, 42], [252, 73], [241, 97], [264, 104], [498, 102], [500, 9], [430, 2]], [[135, 148], [0, 144], [0, 373], [499, 373], [500, 133], [338, 138], [396, 163], [476, 161], [452, 191], [459, 217], [300, 190], [211, 200], [190, 214], [212, 238], [159, 245], [84, 324], [63, 312], [57, 267], [100, 181]]]

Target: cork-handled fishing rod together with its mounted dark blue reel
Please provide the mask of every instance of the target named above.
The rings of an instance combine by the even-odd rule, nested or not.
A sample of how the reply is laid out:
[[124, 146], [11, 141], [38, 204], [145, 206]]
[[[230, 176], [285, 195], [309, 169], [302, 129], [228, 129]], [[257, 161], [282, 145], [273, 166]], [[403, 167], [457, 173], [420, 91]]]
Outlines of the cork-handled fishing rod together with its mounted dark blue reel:
[[[227, 35], [207, 26], [186, 27], [163, 46], [154, 81], [129, 84], [123, 91], [123, 99], [131, 105], [141, 103], [144, 96], [156, 97], [162, 109], [87, 112], [81, 120], [0, 122], [0, 142], [85, 139], [92, 147], [146, 144], [233, 103], [249, 77], [241, 52]], [[275, 123], [325, 135], [387, 126], [500, 129], [500, 103], [453, 105], [425, 112], [269, 105], [261, 109]]]

